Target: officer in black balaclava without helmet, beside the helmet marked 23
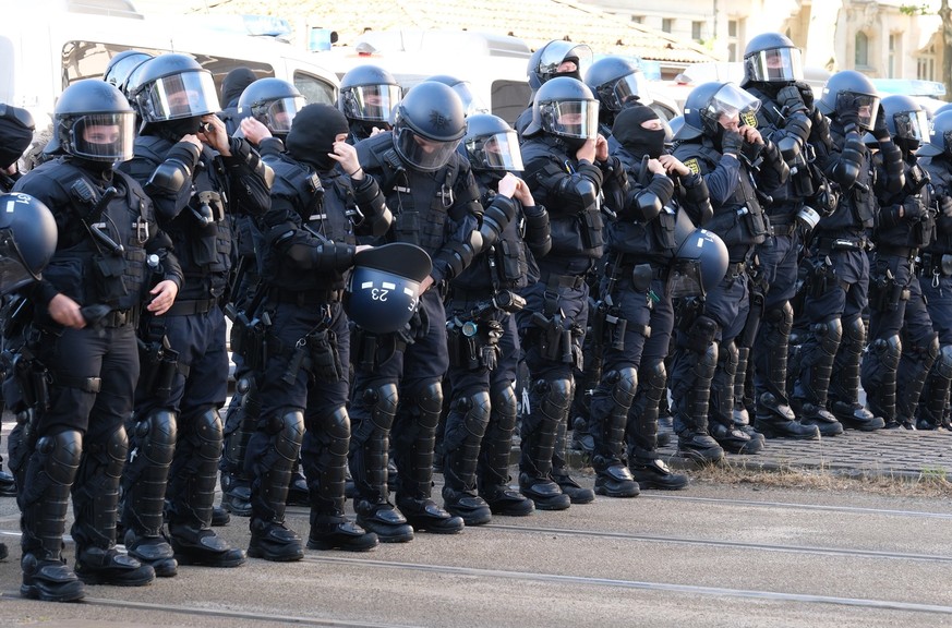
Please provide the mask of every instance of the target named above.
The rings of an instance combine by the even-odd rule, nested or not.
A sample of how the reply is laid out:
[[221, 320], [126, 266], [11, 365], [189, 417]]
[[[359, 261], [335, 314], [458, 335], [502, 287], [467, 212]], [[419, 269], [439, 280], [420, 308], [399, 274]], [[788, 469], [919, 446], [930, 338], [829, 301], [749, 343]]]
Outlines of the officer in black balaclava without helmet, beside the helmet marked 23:
[[245, 468], [252, 478], [248, 553], [268, 560], [303, 556], [301, 540], [284, 517], [302, 443], [311, 505], [308, 546], [365, 551], [377, 544], [376, 534], [344, 515], [350, 330], [340, 298], [344, 274], [361, 249], [356, 230], [381, 235], [391, 218], [376, 181], [346, 143], [347, 130], [347, 119], [334, 107], [308, 105], [294, 118], [287, 153], [267, 158], [275, 185], [272, 207], [258, 219], [267, 288], [257, 317], [269, 322], [263, 330], [268, 359], [257, 361], [261, 416]]

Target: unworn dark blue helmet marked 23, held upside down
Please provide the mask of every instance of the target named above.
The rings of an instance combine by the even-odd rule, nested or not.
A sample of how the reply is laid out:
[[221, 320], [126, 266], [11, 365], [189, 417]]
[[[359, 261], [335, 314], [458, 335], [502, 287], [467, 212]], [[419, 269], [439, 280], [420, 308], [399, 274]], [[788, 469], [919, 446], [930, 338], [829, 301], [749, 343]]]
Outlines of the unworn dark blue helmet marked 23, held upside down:
[[398, 331], [413, 316], [420, 283], [432, 269], [430, 255], [414, 244], [393, 242], [365, 249], [353, 256], [344, 310], [372, 334]]

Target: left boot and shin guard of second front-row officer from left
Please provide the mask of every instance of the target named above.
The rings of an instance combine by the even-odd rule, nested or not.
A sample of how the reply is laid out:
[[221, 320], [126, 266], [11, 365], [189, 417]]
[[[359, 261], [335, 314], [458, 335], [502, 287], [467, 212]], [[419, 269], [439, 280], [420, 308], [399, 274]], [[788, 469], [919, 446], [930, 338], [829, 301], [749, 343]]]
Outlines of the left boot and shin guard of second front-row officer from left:
[[123, 542], [129, 555], [152, 565], [156, 576], [178, 572], [162, 529], [166, 484], [176, 450], [176, 415], [156, 410], [132, 427], [129, 461], [122, 473]]

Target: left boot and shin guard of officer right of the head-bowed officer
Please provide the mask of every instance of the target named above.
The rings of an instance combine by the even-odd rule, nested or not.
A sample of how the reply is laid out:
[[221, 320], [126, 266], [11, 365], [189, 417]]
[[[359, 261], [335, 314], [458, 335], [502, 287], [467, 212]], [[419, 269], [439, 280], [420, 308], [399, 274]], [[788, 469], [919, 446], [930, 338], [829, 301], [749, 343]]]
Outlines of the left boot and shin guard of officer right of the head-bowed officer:
[[489, 391], [473, 391], [450, 402], [443, 437], [443, 506], [467, 526], [482, 526], [493, 518], [489, 505], [477, 495], [475, 479], [480, 445], [489, 422]]

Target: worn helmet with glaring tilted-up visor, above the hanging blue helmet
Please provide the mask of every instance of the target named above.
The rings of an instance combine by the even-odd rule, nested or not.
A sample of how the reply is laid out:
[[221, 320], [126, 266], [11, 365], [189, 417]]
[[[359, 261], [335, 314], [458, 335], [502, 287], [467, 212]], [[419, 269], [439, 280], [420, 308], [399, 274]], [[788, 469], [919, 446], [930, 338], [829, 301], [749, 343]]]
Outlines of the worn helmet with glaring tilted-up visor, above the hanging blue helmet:
[[[702, 83], [688, 94], [684, 104], [684, 123], [675, 140], [694, 140], [700, 135], [720, 137], [721, 117], [740, 118], [751, 124], [760, 100], [733, 83]], [[752, 125], [752, 124], [751, 124]]]

